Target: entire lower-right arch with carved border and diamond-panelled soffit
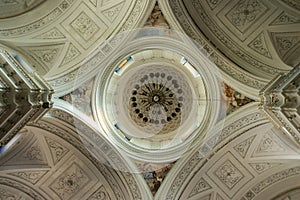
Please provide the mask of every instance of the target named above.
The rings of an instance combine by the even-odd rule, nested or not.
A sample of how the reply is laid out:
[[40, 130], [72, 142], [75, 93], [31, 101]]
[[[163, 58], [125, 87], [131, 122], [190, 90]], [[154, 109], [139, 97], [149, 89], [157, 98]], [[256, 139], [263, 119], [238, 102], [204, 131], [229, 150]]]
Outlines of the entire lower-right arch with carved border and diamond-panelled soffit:
[[[223, 129], [216, 129], [219, 134], [175, 164], [155, 199], [259, 199], [266, 193], [279, 194], [269, 186], [289, 180], [293, 184], [299, 178], [299, 149], [280, 138], [281, 132], [257, 110], [257, 103], [236, 111]], [[234, 176], [224, 174], [227, 171]]]

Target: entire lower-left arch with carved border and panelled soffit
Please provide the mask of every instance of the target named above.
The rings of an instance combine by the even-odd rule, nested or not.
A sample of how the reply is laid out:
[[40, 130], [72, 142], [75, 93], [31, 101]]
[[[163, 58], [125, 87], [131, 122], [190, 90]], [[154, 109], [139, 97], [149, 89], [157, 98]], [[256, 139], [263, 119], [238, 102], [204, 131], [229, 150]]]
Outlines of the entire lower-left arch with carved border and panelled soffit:
[[[130, 173], [130, 169], [136, 166], [120, 154], [101, 133], [95, 130], [95, 127], [92, 127], [91, 123], [81, 119], [78, 113], [76, 115], [76, 111], [72, 111], [75, 115], [71, 115], [70, 110], [66, 110], [67, 105], [63, 107], [64, 110], [53, 108], [42, 120], [25, 127], [33, 135], [27, 137], [27, 134], [24, 137], [27, 144], [30, 143], [27, 146], [32, 151], [32, 156], [40, 155], [41, 159], [47, 162], [41, 165], [41, 161], [38, 160], [36, 166], [27, 165], [28, 169], [26, 165], [25, 169], [24, 165], [21, 169], [17, 169], [18, 166], [12, 163], [16, 169], [10, 166], [8, 170], [12, 170], [9, 171], [5, 165], [9, 165], [10, 161], [8, 164], [2, 164], [2, 172], [0, 172], [2, 185], [15, 187], [20, 191], [29, 191], [31, 193], [26, 192], [26, 194], [34, 199], [45, 199], [45, 197], [51, 199], [53, 191], [57, 191], [55, 193], [57, 198], [61, 195], [88, 198], [105, 194], [112, 199], [151, 199], [152, 195], [142, 176]], [[38, 143], [38, 141], [42, 142]], [[96, 157], [92, 156], [89, 151], [91, 148], [87, 145], [95, 147], [95, 152], [92, 153], [97, 153]], [[48, 149], [42, 149], [44, 147]], [[13, 151], [9, 151], [8, 154], [15, 152], [19, 155], [20, 149], [23, 151], [24, 145], [13, 147]], [[49, 155], [38, 153], [38, 150], [48, 152]], [[111, 166], [118, 166], [117, 169], [122, 171], [114, 170]], [[37, 177], [38, 180], [33, 182], [35, 180], [31, 180], [30, 176]], [[74, 179], [70, 179], [73, 181], [73, 187], [67, 186], [70, 176], [75, 176]], [[76, 190], [74, 190], [75, 185], [77, 185]], [[39, 189], [36, 189], [36, 186]], [[80, 197], [78, 194], [80, 191], [89, 192]]]

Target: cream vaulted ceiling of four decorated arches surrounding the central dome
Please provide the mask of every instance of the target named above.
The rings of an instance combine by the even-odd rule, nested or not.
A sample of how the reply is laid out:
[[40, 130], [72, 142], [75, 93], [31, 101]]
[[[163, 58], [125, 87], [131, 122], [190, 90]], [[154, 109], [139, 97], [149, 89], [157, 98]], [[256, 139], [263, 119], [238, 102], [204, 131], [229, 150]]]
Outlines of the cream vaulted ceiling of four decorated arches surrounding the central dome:
[[[299, 199], [300, 149], [258, 110], [259, 91], [299, 67], [299, 1], [0, 0], [0, 10], [0, 48], [55, 90], [54, 108], [0, 154], [0, 199]], [[189, 36], [236, 94], [229, 101], [248, 99], [215, 117], [154, 197], [93, 108], [120, 33], [144, 25]]]

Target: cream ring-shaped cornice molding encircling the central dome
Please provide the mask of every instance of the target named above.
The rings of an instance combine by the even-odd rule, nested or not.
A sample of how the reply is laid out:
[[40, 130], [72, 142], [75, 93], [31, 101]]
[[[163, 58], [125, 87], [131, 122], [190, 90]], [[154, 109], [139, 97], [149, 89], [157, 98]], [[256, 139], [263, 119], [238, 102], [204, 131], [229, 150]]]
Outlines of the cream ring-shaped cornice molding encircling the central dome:
[[[171, 51], [173, 55], [180, 55], [173, 58], [173, 64], [170, 59], [170, 61], [167, 61], [167, 58], [164, 57], [161, 58], [155, 58], [155, 56], [152, 56], [153, 58], [147, 58], [141, 60], [141, 64], [147, 64], [147, 63], [159, 63], [166, 66], [169, 66], [170, 64], [175, 65], [174, 63], [178, 62], [178, 69], [180, 69], [180, 59], [182, 57], [188, 57], [189, 62], [192, 63], [194, 69], [199, 73], [199, 77], [201, 77], [202, 81], [204, 82], [205, 91], [208, 91], [208, 94], [206, 96], [209, 96], [209, 98], [216, 99], [217, 101], [221, 101], [220, 93], [219, 93], [219, 86], [220, 83], [218, 82], [218, 77], [221, 75], [219, 74], [219, 70], [213, 63], [210, 62], [209, 59], [206, 58], [205, 50], [203, 50], [201, 47], [194, 45], [189, 37], [187, 37], [185, 34], [179, 33], [179, 32], [173, 32], [170, 30], [163, 30], [163, 29], [155, 29], [155, 28], [148, 28], [148, 29], [141, 29], [141, 30], [135, 30], [131, 33], [131, 35], [137, 35], [138, 37], [129, 38], [131, 40], [123, 41], [122, 46], [119, 45], [114, 51], [115, 53], [112, 54], [112, 58], [108, 62], [103, 62], [99, 66], [100, 69], [105, 68], [104, 70], [101, 70], [98, 73], [98, 76], [95, 80], [95, 90], [93, 91], [92, 96], [92, 108], [93, 113], [96, 116], [97, 122], [101, 124], [101, 126], [105, 129], [106, 133], [111, 133], [111, 131], [115, 131], [115, 128], [112, 126], [113, 124], [109, 124], [110, 121], [115, 121], [110, 119], [108, 116], [110, 116], [110, 112], [107, 112], [109, 107], [108, 104], [105, 103], [108, 100], [104, 99], [106, 98], [106, 93], [111, 94], [114, 91], [109, 90], [109, 92], [105, 92], [108, 88], [108, 83], [110, 82], [111, 77], [113, 76], [115, 66], [118, 65], [118, 62], [121, 62], [121, 60], [118, 61], [120, 57], [128, 57], [128, 56], [135, 56], [134, 52], [146, 52], [146, 50], [149, 49], [149, 52], [152, 52], [153, 49], [159, 49], [160, 51], [170, 51], [170, 49], [174, 49], [174, 51]], [[128, 33], [127, 33], [128, 34]], [[126, 37], [127, 35], [123, 36]], [[122, 37], [122, 36], [121, 36]], [[191, 45], [188, 45], [191, 44]], [[191, 50], [191, 48], [193, 50]], [[204, 53], [203, 53], [204, 51]], [[149, 53], [148, 52], [148, 53]], [[151, 53], [149, 53], [150, 55]], [[152, 55], [152, 54], [151, 54]], [[165, 59], [165, 60], [164, 60]], [[117, 60], [117, 61], [116, 61]], [[136, 64], [139, 66], [139, 59], [136, 59], [130, 67], [134, 67]], [[202, 67], [203, 66], [203, 67]], [[150, 76], [150, 75], [149, 75]], [[198, 81], [198, 80], [197, 80]], [[201, 85], [201, 86], [202, 86]], [[121, 87], [122, 88], [122, 87]], [[198, 86], [200, 88], [200, 86]], [[102, 93], [104, 94], [102, 95]], [[204, 95], [203, 95], [204, 97]], [[206, 97], [205, 97], [206, 98]], [[201, 99], [203, 101], [203, 98]], [[206, 133], [207, 129], [211, 128], [214, 123], [217, 122], [217, 116], [222, 115], [221, 106], [220, 104], [216, 103], [217, 101], [210, 102], [205, 101], [205, 112], [203, 112], [204, 115], [207, 115], [208, 117], [204, 117], [203, 122], [200, 123], [200, 125], [197, 127], [197, 130], [194, 132], [195, 134], [193, 136], [197, 137], [195, 140], [201, 140], [201, 137], [204, 137], [203, 134]], [[203, 101], [204, 102], [204, 101]], [[204, 105], [204, 103], [201, 103]], [[201, 106], [201, 105], [200, 105]], [[206, 112], [207, 110], [207, 112]], [[221, 118], [221, 117], [220, 117]], [[103, 125], [104, 124], [104, 125]], [[188, 127], [191, 128], [191, 127]], [[199, 133], [199, 134], [198, 134]], [[203, 133], [203, 134], [202, 134]], [[114, 136], [113, 136], [114, 137]], [[114, 137], [117, 138], [117, 137]], [[192, 137], [187, 137], [186, 140], [183, 142], [179, 141], [175, 148], [169, 148], [169, 149], [162, 149], [160, 151], [160, 158], [163, 158], [164, 162], [166, 159], [168, 161], [174, 160], [176, 157], [178, 158], [181, 156], [182, 152], [187, 149], [187, 147], [192, 144], [191, 142]], [[118, 137], [115, 139], [115, 142], [122, 146], [121, 148], [128, 153], [130, 157], [134, 157], [135, 159], [145, 159], [145, 160], [151, 160], [153, 161], [153, 158], [155, 158], [155, 151], [148, 151], [145, 148], [136, 148], [132, 143], [127, 142], [124, 140], [124, 138]], [[192, 144], [193, 145], [193, 144]], [[123, 148], [123, 146], [125, 148]], [[182, 151], [183, 150], [183, 151]], [[147, 157], [146, 157], [147, 156]], [[157, 158], [158, 159], [158, 158]], [[158, 162], [158, 160], [153, 162]]]

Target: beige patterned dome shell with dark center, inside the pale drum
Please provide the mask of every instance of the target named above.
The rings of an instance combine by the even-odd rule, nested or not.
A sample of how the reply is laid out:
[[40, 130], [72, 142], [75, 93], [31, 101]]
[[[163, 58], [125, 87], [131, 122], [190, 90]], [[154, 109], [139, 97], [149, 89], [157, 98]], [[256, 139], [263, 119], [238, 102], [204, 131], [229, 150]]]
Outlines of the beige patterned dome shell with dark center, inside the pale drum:
[[[175, 67], [138, 66], [122, 74], [119, 83], [117, 93], [124, 97], [116, 102], [118, 121], [130, 134], [139, 130], [143, 133], [140, 137], [147, 135], [152, 140], [157, 138], [154, 135], [172, 134], [191, 112], [192, 89], [185, 75]], [[130, 121], [121, 120], [126, 118]]]

